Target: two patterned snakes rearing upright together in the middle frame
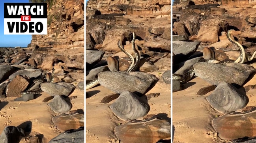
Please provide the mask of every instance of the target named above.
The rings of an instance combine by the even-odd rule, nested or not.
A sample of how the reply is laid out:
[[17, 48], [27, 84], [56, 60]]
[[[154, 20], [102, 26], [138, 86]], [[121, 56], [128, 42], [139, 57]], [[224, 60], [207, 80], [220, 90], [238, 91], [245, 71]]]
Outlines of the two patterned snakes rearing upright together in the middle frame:
[[[125, 69], [124, 72], [130, 72], [130, 71], [136, 71], [136, 69], [138, 69], [139, 63], [140, 63], [140, 54], [137, 51], [137, 49], [135, 48], [135, 39], [136, 39], [136, 34], [135, 32], [133, 32], [133, 40], [132, 40], [132, 47], [133, 47], [133, 51], [135, 52], [135, 59], [133, 58], [133, 56], [127, 52], [123, 46], [120, 46], [120, 40], [118, 41], [117, 45], [119, 47], [119, 49], [124, 52], [127, 56], [129, 56], [131, 63], [129, 64], [129, 66], [127, 67], [127, 69]], [[87, 89], [91, 89], [93, 87], [95, 87], [96, 85], [99, 84], [99, 78], [95, 78], [94, 80], [90, 81], [88, 84], [86, 84], [86, 90]]]

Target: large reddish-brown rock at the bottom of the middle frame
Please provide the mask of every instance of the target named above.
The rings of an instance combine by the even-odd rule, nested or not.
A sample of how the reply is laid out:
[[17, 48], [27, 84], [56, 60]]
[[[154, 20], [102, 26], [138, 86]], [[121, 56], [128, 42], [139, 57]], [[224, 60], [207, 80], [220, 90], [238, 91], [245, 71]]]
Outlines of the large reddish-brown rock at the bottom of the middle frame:
[[168, 121], [153, 119], [120, 125], [115, 128], [115, 134], [122, 143], [157, 143], [161, 139], [171, 137], [170, 129]]

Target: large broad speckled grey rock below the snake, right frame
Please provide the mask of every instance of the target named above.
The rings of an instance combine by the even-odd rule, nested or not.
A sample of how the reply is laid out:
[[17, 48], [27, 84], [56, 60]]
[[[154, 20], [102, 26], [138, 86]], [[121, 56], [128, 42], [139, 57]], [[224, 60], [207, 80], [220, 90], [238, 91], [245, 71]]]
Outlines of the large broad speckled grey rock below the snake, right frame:
[[206, 80], [212, 85], [225, 81], [243, 85], [245, 80], [256, 71], [254, 67], [243, 63], [195, 63], [195, 75]]

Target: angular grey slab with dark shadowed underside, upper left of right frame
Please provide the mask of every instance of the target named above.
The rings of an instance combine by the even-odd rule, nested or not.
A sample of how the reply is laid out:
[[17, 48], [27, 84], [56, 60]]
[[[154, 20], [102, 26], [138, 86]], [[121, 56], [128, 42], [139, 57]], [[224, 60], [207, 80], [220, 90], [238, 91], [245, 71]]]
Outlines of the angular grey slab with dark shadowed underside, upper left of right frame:
[[173, 41], [172, 48], [175, 54], [174, 64], [186, 61], [189, 56], [196, 52], [200, 42]]

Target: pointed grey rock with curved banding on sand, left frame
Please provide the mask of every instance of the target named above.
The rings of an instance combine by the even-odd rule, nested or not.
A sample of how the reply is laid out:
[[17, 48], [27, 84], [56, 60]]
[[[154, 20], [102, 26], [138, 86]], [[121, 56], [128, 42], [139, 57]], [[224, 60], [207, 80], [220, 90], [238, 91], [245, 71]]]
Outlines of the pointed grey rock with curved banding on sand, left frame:
[[53, 100], [48, 103], [50, 109], [57, 114], [63, 114], [72, 108], [72, 104], [68, 101], [69, 98], [64, 98], [60, 95], [55, 95]]

